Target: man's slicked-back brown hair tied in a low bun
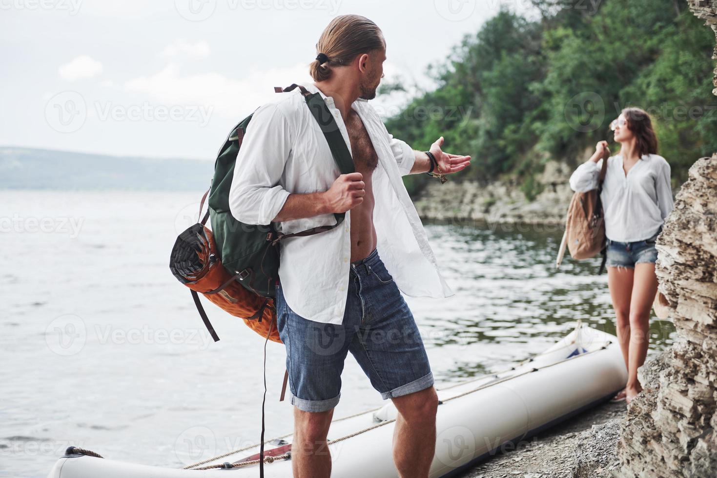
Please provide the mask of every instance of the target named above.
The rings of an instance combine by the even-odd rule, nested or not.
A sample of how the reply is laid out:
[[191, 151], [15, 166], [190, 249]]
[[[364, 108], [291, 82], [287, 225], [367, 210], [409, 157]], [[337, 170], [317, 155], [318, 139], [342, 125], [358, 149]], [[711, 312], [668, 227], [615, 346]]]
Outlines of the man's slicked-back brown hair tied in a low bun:
[[348, 64], [362, 53], [386, 47], [384, 34], [376, 24], [361, 15], [341, 15], [331, 20], [316, 44], [316, 53], [326, 54], [328, 62], [315, 59], [309, 65], [314, 81], [331, 77], [331, 67]]

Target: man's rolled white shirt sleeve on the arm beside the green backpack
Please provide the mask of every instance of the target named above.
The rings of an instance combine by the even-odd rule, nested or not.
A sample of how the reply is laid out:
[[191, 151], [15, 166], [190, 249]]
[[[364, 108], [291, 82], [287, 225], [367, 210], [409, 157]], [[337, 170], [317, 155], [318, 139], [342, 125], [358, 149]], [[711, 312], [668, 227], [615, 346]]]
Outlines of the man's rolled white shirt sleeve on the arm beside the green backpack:
[[291, 152], [292, 135], [275, 104], [255, 111], [244, 134], [229, 188], [229, 211], [244, 224], [267, 225], [279, 214], [290, 192], [280, 184]]

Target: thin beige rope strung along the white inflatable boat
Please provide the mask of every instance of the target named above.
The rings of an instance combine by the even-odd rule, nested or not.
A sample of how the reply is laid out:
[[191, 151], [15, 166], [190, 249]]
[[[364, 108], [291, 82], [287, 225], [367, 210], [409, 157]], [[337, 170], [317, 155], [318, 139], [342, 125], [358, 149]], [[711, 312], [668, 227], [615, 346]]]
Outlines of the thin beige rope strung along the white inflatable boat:
[[[481, 385], [481, 386], [478, 386], [477, 388], [473, 388], [472, 390], [465, 391], [465, 392], [463, 392], [463, 393], [459, 393], [458, 395], [455, 395], [455, 396], [452, 396], [452, 397], [444, 398], [444, 399], [442, 399], [442, 400], [440, 401], [440, 403], [446, 403], [447, 401], [455, 400], [456, 398], [461, 398], [461, 397], [463, 397], [463, 396], [470, 395], [470, 393], [475, 393], [475, 392], [477, 392], [477, 391], [483, 390], [484, 388], [488, 388], [488, 387], [490, 387], [490, 386], [495, 386], [495, 385], [498, 385], [499, 383], [503, 383], [503, 382], [508, 381], [508, 380], [511, 380], [511, 379], [513, 379], [513, 378], [520, 377], [520, 376], [523, 376], [523, 375], [527, 375], [528, 373], [533, 373], [533, 372], [540, 371], [540, 370], [542, 370], [543, 368], [549, 368], [549, 367], [552, 367], [552, 366], [554, 366], [554, 365], [558, 365], [559, 363], [565, 363], [565, 362], [567, 362], [568, 360], [573, 360], [573, 359], [575, 359], [575, 358], [584, 357], [585, 355], [591, 355], [591, 354], [593, 354], [593, 353], [600, 352], [600, 351], [606, 349], [607, 346], [608, 346], [610, 343], [612, 343], [612, 340], [608, 340], [608, 341], [605, 342], [600, 348], [597, 348], [597, 349], [592, 350], [592, 351], [590, 351], [590, 352], [585, 352], [585, 353], [580, 353], [580, 354], [578, 354], [578, 355], [573, 355], [573, 356], [570, 357], [570, 358], [566, 358], [565, 360], [560, 360], [559, 362], [556, 362], [556, 363], [550, 363], [550, 364], [548, 364], [548, 365], [543, 365], [542, 367], [531, 368], [531, 369], [529, 369], [528, 371], [525, 371], [525, 372], [523, 372], [523, 373], [519, 373], [518, 375], [511, 375], [511, 376], [507, 376], [507, 377], [504, 377], [504, 378], [500, 378], [500, 379], [498, 379], [498, 380], [496, 380], [496, 381], [491, 381], [490, 383], [485, 383], [485, 384], [483, 384], [483, 385]], [[539, 355], [541, 355], [541, 354], [539, 354]], [[538, 356], [538, 355], [536, 355], [536, 357], [537, 357], [537, 356]], [[532, 360], [532, 359], [531, 359], [531, 360]], [[511, 370], [513, 370], [513, 369], [514, 369], [514, 368], [508, 369], [508, 371], [511, 371]], [[475, 380], [476, 380], [476, 379], [471, 380], [471, 381], [467, 381], [467, 382], [463, 382], [463, 383], [459, 383], [459, 384], [457, 384], [457, 385], [464, 385], [465, 383], [470, 383], [470, 382], [475, 381]], [[448, 387], [448, 388], [451, 388], [451, 387]], [[445, 390], [445, 389], [444, 389], [444, 390]], [[371, 412], [371, 411], [380, 410], [381, 408], [383, 408], [383, 407], [379, 407], [379, 408], [374, 408], [374, 409], [372, 409], [372, 410], [363, 411], [363, 412], [361, 412], [361, 413], [359, 413], [359, 414], [353, 414], [353, 415], [350, 415], [350, 416], [345, 416], [345, 417], [343, 417], [343, 418], [341, 418], [341, 419], [337, 419], [337, 420], [335, 420], [335, 421], [341, 421], [341, 420], [351, 419], [351, 418], [356, 417], [356, 416], [359, 416], [359, 415], [368, 414], [368, 413]], [[339, 441], [343, 441], [343, 440], [347, 440], [347, 439], [353, 438], [353, 436], [358, 436], [358, 435], [360, 435], [360, 434], [364, 434], [364, 433], [366, 433], [366, 431], [371, 431], [371, 430], [377, 429], [377, 428], [379, 428], [379, 427], [381, 427], [381, 426], [386, 426], [386, 425], [392, 424], [392, 423], [394, 423], [394, 421], [396, 421], [396, 419], [390, 419], [390, 420], [386, 420], [386, 421], [381, 421], [381, 423], [379, 423], [379, 424], [375, 424], [375, 425], [369, 426], [369, 427], [367, 427], [367, 428], [365, 428], [365, 429], [362, 429], [362, 430], [359, 430], [359, 431], [355, 431], [355, 432], [353, 432], [352, 434], [348, 434], [348, 435], [346, 435], [346, 436], [341, 436], [341, 438], [338, 438], [338, 439], [335, 439], [335, 440], [327, 441], [327, 442], [326, 442], [326, 446], [330, 446], [330, 445], [332, 445], [332, 444], [338, 443]], [[282, 435], [282, 436], [277, 437], [276, 439], [286, 438], [287, 436], [290, 436], [290, 435], [292, 435], [292, 434], [293, 434], [293, 433], [286, 434], [286, 435]], [[269, 441], [274, 441], [274, 440], [275, 440], [275, 439], [268, 440], [268, 441], [266, 441], [265, 443], [268, 443]], [[256, 446], [259, 446], [259, 444], [246, 446], [246, 447], [244, 447], [244, 448], [242, 448], [242, 449], [235, 450], [235, 451], [229, 451], [229, 453], [225, 453], [225, 454], [223, 454], [223, 455], [220, 455], [219, 457], [214, 457], [214, 458], [212, 458], [212, 459], [206, 459], [206, 460], [204, 460], [204, 462], [199, 462], [199, 463], [196, 463], [196, 464], [193, 464], [193, 465], [188, 465], [187, 467], [184, 467], [184, 469], [216, 469], [216, 468], [231, 469], [231, 468], [244, 467], [244, 466], [251, 465], [251, 464], [257, 464], [257, 463], [260, 462], [260, 460], [255, 459], [255, 460], [250, 460], [250, 461], [247, 461], [247, 462], [234, 462], [234, 463], [228, 463], [228, 462], [227, 462], [227, 463], [224, 463], [224, 464], [210, 465], [209, 467], [194, 468], [194, 467], [196, 467], [196, 466], [198, 466], [198, 465], [200, 465], [200, 464], [205, 464], [205, 463], [209, 463], [209, 462], [214, 462], [214, 461], [217, 460], [217, 459], [224, 458], [224, 457], [228, 457], [229, 455], [239, 453], [239, 451], [246, 451], [247, 449], [255, 448]], [[279, 459], [290, 459], [290, 458], [291, 458], [291, 453], [288, 452], [288, 453], [285, 453], [285, 454], [277, 455], [276, 457], [264, 457], [264, 462], [265, 462], [265, 463], [272, 463], [272, 462], [275, 462], [276, 460], [279, 460]]]

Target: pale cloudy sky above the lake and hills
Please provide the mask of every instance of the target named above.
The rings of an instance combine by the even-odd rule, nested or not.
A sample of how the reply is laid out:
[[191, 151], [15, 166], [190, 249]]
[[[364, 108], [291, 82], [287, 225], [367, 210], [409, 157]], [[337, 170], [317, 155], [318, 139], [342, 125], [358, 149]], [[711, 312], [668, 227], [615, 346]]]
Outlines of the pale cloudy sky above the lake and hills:
[[[528, 0], [0, 0], [0, 145], [214, 160], [229, 129], [310, 81], [320, 33], [361, 14], [384, 80], [430, 87], [465, 34]], [[389, 114], [404, 98], [376, 97]], [[424, 145], [427, 146], [427, 145]]]

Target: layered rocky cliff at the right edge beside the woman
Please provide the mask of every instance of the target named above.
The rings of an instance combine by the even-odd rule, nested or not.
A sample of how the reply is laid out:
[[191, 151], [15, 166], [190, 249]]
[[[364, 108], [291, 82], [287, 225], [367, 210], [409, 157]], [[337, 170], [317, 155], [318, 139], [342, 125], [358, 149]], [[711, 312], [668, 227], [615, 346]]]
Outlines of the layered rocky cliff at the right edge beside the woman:
[[[717, 34], [717, 0], [688, 4]], [[670, 302], [677, 338], [659, 366], [646, 365], [651, 372], [642, 372], [645, 391], [622, 422], [614, 476], [715, 477], [717, 155], [690, 168], [657, 251], [659, 287]]]

